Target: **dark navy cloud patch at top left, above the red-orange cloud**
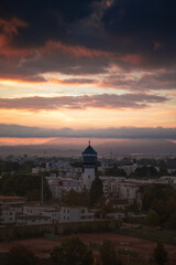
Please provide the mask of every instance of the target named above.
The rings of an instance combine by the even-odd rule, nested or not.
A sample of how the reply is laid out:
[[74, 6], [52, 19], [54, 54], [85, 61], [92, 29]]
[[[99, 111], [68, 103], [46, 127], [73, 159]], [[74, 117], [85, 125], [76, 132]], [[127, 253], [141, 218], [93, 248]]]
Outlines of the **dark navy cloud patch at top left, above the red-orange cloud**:
[[15, 38], [16, 45], [37, 46], [47, 40], [67, 39], [67, 26], [90, 15], [100, 0], [1, 0], [0, 17], [16, 17], [26, 23]]

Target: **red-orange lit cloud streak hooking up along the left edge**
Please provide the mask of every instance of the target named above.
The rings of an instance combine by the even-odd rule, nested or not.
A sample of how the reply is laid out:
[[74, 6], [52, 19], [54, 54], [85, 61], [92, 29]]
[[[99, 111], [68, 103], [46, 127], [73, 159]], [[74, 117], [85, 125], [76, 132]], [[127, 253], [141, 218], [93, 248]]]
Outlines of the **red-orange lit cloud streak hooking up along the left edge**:
[[113, 57], [113, 53], [99, 51], [95, 49], [84, 47], [81, 45], [66, 45], [61, 41], [48, 41], [44, 46], [41, 47], [14, 47], [12, 44], [13, 35], [19, 34], [18, 28], [25, 28], [29, 24], [18, 18], [13, 18], [11, 20], [0, 19], [0, 28], [2, 29], [2, 33], [0, 34], [0, 53], [7, 56], [23, 56], [30, 54], [51, 54], [55, 51], [61, 51], [66, 54], [70, 54], [76, 57]]

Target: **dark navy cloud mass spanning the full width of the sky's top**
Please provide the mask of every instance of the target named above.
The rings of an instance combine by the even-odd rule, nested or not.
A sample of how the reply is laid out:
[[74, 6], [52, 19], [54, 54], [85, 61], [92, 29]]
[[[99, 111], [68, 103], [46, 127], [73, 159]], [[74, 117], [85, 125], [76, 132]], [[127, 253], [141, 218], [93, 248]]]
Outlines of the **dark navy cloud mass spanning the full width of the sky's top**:
[[[113, 50], [121, 54], [143, 53], [154, 56], [153, 61], [175, 54], [174, 0], [113, 0], [109, 7], [106, 2], [2, 0], [0, 17], [7, 20], [16, 17], [29, 24], [14, 36], [13, 42], [21, 46], [37, 46], [48, 40], [62, 40], [89, 47], [98, 45], [100, 50]], [[102, 25], [106, 31], [102, 31]], [[99, 40], [96, 40], [96, 35]]]

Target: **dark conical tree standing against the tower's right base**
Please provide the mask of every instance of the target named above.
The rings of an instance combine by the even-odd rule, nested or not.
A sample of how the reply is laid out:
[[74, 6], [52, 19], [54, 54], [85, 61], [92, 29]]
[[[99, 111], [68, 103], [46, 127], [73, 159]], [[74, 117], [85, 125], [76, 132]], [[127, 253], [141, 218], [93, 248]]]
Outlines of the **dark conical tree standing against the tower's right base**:
[[89, 195], [90, 205], [95, 205], [100, 201], [101, 197], [103, 195], [102, 181], [100, 178], [96, 177], [96, 179], [92, 181]]

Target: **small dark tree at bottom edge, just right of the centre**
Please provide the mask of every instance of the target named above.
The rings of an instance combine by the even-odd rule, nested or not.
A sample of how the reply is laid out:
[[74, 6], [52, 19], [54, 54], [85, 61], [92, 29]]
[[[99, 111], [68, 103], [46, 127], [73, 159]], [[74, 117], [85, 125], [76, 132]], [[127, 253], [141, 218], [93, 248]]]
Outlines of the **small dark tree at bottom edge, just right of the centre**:
[[103, 241], [100, 247], [100, 258], [102, 265], [121, 265], [121, 261], [117, 257], [114, 244], [110, 241]]

